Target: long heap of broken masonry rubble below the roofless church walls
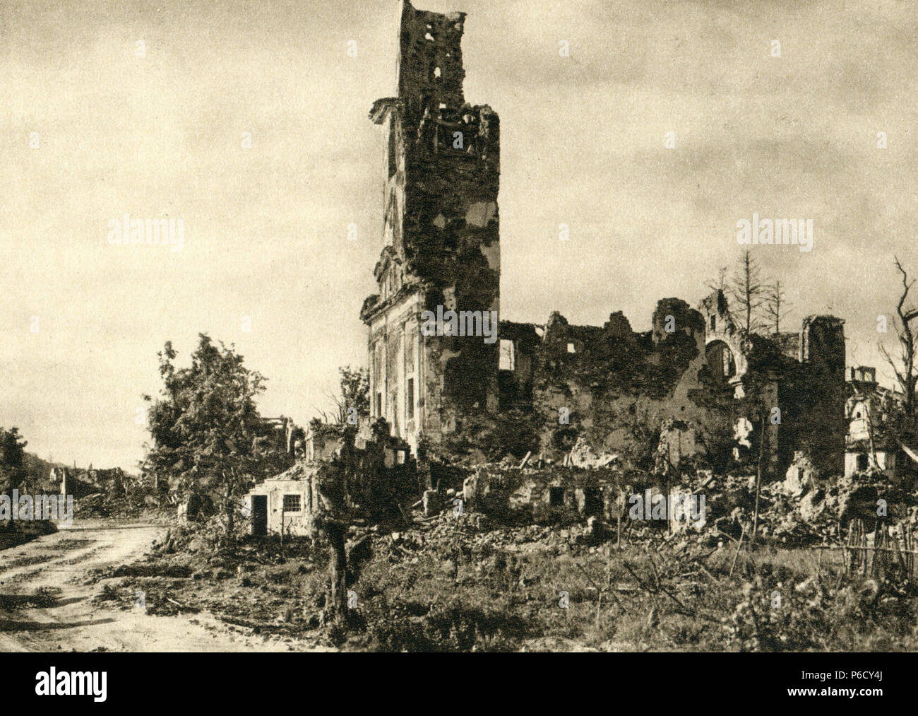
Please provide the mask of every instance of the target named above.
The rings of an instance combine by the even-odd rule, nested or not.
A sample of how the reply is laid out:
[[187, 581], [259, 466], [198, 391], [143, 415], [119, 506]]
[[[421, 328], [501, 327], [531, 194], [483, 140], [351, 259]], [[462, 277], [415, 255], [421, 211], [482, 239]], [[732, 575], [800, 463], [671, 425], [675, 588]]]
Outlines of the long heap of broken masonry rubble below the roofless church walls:
[[[691, 480], [675, 472], [626, 472], [618, 456], [597, 455], [583, 441], [577, 442], [569, 458], [564, 465], [530, 456], [520, 463], [508, 457], [477, 465], [462, 483], [441, 484], [440, 491], [424, 492], [416, 506], [423, 517], [465, 509], [505, 529], [528, 524], [569, 527], [589, 521], [606, 539], [615, 535], [619, 518], [629, 539], [644, 535], [658, 539], [689, 529], [700, 541], [713, 545], [752, 534], [755, 474], [714, 475], [699, 470]], [[578, 463], [590, 467], [572, 467]], [[666, 520], [631, 519], [633, 495], [647, 489], [655, 497], [665, 493], [703, 496], [704, 517], [695, 522], [670, 519], [668, 525]], [[457, 501], [462, 507], [457, 507]], [[882, 472], [823, 475], [812, 460], [798, 453], [783, 481], [760, 485], [756, 538], [788, 548], [828, 544], [839, 540], [852, 519], [863, 519], [872, 531], [878, 518], [889, 524], [913, 520], [915, 506], [918, 495], [890, 483]]]

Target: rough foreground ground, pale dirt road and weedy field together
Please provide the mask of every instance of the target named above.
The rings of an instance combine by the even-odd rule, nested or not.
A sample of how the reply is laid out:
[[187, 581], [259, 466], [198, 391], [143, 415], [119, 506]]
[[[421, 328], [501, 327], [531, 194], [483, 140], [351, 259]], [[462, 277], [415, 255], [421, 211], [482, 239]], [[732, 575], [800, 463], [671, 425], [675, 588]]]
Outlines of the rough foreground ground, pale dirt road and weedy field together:
[[[0, 552], [0, 649], [57, 651], [913, 651], [897, 563], [637, 525], [483, 515], [351, 528], [347, 623], [323, 540], [226, 540], [215, 524], [75, 523]], [[145, 608], [136, 606], [138, 591]], [[601, 592], [601, 598], [599, 593]]]

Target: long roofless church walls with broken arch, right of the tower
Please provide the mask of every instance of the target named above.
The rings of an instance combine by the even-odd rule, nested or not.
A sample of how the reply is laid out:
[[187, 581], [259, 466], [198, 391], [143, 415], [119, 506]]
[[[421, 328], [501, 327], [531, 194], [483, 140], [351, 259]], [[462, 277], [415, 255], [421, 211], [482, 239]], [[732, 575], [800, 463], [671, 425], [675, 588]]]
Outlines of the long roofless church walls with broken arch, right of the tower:
[[621, 313], [603, 326], [553, 313], [544, 326], [500, 327], [501, 404], [541, 416], [545, 458], [561, 460], [586, 437], [650, 469], [662, 440], [673, 467], [697, 456], [700, 467], [722, 471], [756, 462], [764, 419], [767, 472], [781, 474], [796, 449], [841, 472], [845, 336], [837, 318], [807, 317], [793, 340], [747, 336], [717, 291], [699, 310], [659, 301], [647, 333], [633, 332]]

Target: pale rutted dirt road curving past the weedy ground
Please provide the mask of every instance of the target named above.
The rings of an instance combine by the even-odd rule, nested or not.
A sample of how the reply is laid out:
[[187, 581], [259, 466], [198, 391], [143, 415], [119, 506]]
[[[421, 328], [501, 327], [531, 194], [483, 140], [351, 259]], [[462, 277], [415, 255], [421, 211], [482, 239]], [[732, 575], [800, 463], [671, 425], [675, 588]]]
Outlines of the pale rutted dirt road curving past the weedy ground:
[[129, 563], [164, 528], [73, 521], [53, 535], [0, 551], [0, 651], [301, 651], [307, 644], [231, 631], [207, 613], [153, 617], [94, 604], [105, 581], [85, 586], [86, 570]]

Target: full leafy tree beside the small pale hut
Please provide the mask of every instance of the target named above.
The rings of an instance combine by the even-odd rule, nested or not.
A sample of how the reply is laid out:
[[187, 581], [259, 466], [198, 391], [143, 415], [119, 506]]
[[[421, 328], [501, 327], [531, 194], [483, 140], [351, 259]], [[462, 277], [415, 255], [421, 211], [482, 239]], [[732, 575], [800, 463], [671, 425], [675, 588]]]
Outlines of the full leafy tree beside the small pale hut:
[[247, 369], [234, 346], [199, 335], [190, 368], [176, 368], [167, 342], [160, 358], [162, 391], [151, 401], [146, 466], [178, 478], [185, 494], [217, 493], [234, 524], [234, 505], [270, 460], [260, 447], [265, 426], [255, 407], [265, 378]]

